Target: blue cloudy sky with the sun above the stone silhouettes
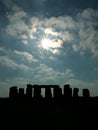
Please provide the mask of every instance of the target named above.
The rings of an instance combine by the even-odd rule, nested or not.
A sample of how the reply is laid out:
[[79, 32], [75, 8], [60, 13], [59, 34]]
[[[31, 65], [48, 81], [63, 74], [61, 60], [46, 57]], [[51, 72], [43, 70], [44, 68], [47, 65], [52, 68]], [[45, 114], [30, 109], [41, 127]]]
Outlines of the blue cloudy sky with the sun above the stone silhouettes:
[[98, 96], [98, 0], [0, 0], [0, 97], [67, 83]]

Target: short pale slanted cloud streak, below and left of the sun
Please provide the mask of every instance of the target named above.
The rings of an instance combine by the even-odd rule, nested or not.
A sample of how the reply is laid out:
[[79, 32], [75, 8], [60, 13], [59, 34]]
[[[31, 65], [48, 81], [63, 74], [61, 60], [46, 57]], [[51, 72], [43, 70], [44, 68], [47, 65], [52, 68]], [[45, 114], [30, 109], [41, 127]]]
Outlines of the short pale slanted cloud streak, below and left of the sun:
[[33, 57], [30, 53], [28, 53], [28, 52], [15, 50], [14, 53], [15, 53], [16, 55], [19, 55], [19, 56], [23, 57], [24, 59], [28, 60], [29, 62], [37, 61], [37, 60], [34, 59], [34, 57]]

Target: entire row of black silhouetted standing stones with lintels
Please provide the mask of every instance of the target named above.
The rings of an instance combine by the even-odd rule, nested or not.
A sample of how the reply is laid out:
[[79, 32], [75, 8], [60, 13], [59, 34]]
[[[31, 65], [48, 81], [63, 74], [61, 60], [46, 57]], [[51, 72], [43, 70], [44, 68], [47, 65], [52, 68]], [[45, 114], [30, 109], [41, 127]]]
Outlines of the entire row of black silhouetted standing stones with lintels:
[[[38, 101], [42, 98], [41, 95], [41, 89], [44, 88], [45, 89], [45, 98], [46, 99], [51, 99], [51, 101], [64, 101], [63, 99], [70, 99], [72, 98], [72, 88], [70, 88], [69, 84], [65, 84], [64, 85], [64, 96], [62, 96], [62, 89], [59, 87], [59, 85], [31, 85], [31, 84], [27, 84], [27, 88], [26, 88], [26, 96], [24, 94], [24, 89], [23, 88], [19, 88], [19, 92], [17, 90], [17, 86], [13, 86], [10, 88], [10, 92], [9, 92], [9, 98], [13, 98], [16, 99], [18, 97], [18, 99], [32, 99], [32, 90], [33, 91], [33, 97], [35, 99], [38, 99]], [[52, 98], [52, 90], [53, 89], [53, 98]], [[78, 88], [74, 88], [73, 89], [73, 97], [79, 97], [78, 95], [79, 89]], [[90, 93], [88, 89], [83, 89], [83, 97], [87, 98], [90, 97]], [[44, 99], [45, 99], [44, 98]], [[17, 101], [19, 101], [17, 99]], [[43, 98], [42, 98], [43, 99]], [[22, 100], [23, 101], [23, 100]], [[30, 102], [33, 100], [30, 100]], [[36, 100], [35, 100], [36, 101]], [[42, 101], [42, 100], [41, 100]], [[44, 100], [46, 101], [46, 100]], [[69, 100], [68, 100], [69, 101]]]

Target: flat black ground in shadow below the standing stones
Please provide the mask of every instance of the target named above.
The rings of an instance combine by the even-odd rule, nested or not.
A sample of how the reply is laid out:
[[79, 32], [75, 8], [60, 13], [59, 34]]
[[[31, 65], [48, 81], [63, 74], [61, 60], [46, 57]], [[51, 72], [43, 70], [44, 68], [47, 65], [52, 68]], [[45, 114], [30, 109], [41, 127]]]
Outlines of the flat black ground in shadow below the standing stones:
[[98, 99], [0, 99], [0, 129], [98, 130]]

